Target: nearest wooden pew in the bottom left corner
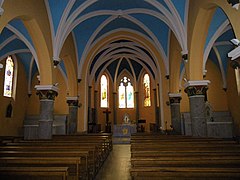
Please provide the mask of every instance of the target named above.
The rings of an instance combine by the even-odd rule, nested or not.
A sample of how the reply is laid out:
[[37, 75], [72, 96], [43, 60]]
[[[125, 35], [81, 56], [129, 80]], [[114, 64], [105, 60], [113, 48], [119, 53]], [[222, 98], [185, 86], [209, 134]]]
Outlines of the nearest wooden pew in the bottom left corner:
[[68, 167], [0, 167], [1, 179], [67, 180]]

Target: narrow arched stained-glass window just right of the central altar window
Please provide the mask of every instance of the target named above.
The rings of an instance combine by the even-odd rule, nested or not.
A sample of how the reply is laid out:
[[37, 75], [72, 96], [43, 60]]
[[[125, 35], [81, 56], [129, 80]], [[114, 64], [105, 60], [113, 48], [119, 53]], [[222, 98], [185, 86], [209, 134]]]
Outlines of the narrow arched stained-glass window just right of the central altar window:
[[144, 107], [151, 106], [151, 96], [150, 96], [150, 78], [148, 74], [143, 76], [143, 97], [144, 97]]

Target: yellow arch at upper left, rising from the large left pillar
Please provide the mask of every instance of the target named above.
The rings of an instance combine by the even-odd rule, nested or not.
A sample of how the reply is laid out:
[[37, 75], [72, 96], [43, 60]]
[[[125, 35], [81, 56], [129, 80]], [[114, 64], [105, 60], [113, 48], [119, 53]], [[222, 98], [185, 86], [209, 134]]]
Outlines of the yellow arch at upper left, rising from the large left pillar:
[[[0, 32], [11, 20], [15, 18], [22, 20], [36, 51], [35, 60], [38, 60], [40, 83], [53, 84], [51, 33], [49, 24], [46, 23], [48, 17], [44, 1], [24, 1], [24, 3], [15, 1], [14, 6], [12, 1], [4, 1], [3, 7], [11, 9], [11, 11], [6, 11], [1, 16]], [[28, 11], [26, 11], [26, 7], [28, 7]]]

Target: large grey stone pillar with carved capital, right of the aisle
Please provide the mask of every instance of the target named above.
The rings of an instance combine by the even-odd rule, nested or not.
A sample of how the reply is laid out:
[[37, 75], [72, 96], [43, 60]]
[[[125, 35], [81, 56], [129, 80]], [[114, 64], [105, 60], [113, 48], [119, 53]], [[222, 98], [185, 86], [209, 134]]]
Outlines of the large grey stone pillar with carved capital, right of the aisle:
[[192, 136], [207, 136], [207, 121], [205, 117], [205, 94], [210, 81], [188, 81], [185, 92], [189, 97]]

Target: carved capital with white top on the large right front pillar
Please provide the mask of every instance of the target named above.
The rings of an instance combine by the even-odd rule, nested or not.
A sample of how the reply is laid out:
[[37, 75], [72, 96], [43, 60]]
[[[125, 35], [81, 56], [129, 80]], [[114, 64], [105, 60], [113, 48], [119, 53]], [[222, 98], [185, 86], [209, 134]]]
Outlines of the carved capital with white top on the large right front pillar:
[[188, 94], [189, 97], [195, 95], [205, 95], [209, 84], [209, 80], [188, 81], [186, 84], [184, 84], [184, 91]]

